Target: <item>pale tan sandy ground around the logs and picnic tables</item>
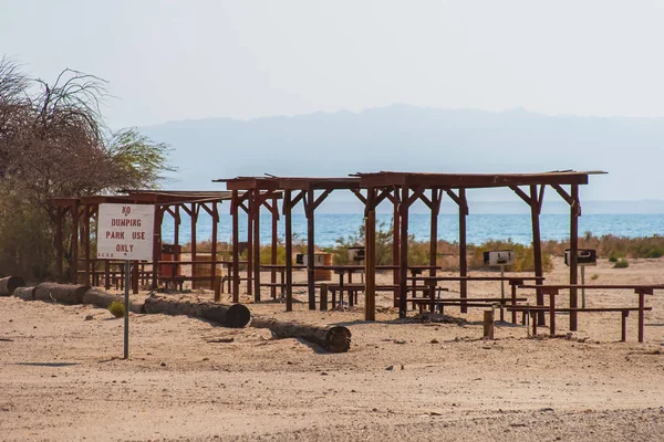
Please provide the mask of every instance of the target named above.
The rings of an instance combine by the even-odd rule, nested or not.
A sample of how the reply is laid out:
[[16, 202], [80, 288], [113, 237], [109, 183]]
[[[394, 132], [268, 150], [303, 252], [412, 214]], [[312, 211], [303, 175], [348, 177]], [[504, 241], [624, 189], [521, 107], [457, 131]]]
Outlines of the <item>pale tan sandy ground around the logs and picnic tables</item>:
[[[548, 282], [564, 282], [566, 271], [557, 261]], [[587, 280], [662, 283], [663, 271], [664, 260], [622, 270], [602, 262]], [[458, 288], [448, 286], [450, 295]], [[500, 287], [475, 283], [470, 291]], [[653, 312], [644, 344], [636, 341], [636, 314], [627, 343], [619, 341], [616, 313], [580, 315], [570, 336], [560, 315], [557, 338], [546, 337], [547, 328], [529, 338], [522, 326], [498, 324], [496, 339], [485, 341], [477, 308], [446, 309], [465, 325], [403, 323], [385, 294], [378, 320], [369, 324], [361, 308], [309, 312], [304, 294], [298, 297], [290, 314], [280, 303], [248, 306], [346, 325], [349, 352], [272, 339], [266, 329], [132, 315], [132, 356], [123, 360], [123, 322], [105, 309], [0, 298], [0, 439], [664, 440], [664, 292], [646, 301]], [[590, 292], [588, 304], [631, 306], [636, 296]]]

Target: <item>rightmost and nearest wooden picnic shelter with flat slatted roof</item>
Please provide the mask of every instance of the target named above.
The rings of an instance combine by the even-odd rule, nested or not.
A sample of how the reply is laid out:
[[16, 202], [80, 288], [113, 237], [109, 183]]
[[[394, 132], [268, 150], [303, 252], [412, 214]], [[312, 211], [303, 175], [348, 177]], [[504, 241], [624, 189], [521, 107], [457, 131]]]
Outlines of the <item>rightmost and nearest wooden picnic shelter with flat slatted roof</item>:
[[[509, 188], [517, 193], [529, 207], [532, 222], [532, 248], [535, 253], [535, 275], [542, 276], [542, 255], [539, 215], [544, 198], [547, 186], [553, 188], [570, 206], [570, 284], [578, 283], [577, 253], [579, 240], [579, 217], [581, 215], [581, 201], [579, 199], [579, 186], [588, 185], [589, 176], [603, 173], [602, 171], [551, 171], [543, 173], [417, 173], [417, 172], [393, 172], [381, 171], [370, 173], [357, 173], [360, 185], [367, 191], [366, 211], [372, 212], [375, 207], [372, 201], [376, 194], [384, 189], [394, 189], [395, 198], [400, 201], [398, 230], [401, 231], [400, 243], [400, 317], [406, 315], [406, 269], [408, 264], [408, 210], [417, 199], [423, 200], [432, 209], [432, 260], [436, 255], [436, 218], [439, 209], [440, 198], [447, 194], [459, 209], [459, 274], [466, 276], [468, 264], [466, 260], [466, 217], [468, 215], [468, 201], [466, 191], [468, 189], [484, 188]], [[569, 186], [569, 191], [563, 188]], [[522, 189], [526, 188], [526, 190]], [[430, 190], [430, 199], [425, 197], [425, 191]], [[371, 218], [367, 217], [367, 220]], [[395, 223], [395, 230], [397, 230]], [[366, 243], [374, 243], [375, 236], [369, 234], [375, 232], [375, 227], [366, 225]], [[369, 260], [369, 259], [367, 259]], [[367, 286], [375, 277], [374, 272], [367, 272]], [[467, 296], [466, 281], [460, 281], [461, 297]], [[374, 297], [375, 293], [366, 293], [366, 297]], [[577, 306], [577, 290], [570, 291], [570, 305]], [[540, 291], [537, 294], [538, 305], [543, 304]], [[370, 304], [370, 303], [367, 303]], [[571, 314], [575, 315], [575, 314]], [[367, 313], [373, 316], [373, 313]], [[541, 318], [543, 320], [543, 318]], [[571, 329], [575, 329], [575, 317], [571, 317]]]

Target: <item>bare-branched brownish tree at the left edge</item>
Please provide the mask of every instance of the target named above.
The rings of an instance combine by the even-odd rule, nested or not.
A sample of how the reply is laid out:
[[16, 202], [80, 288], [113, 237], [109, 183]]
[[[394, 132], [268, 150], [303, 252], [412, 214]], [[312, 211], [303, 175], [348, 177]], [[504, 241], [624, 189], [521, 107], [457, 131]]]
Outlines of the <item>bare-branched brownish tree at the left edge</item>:
[[[136, 129], [108, 130], [100, 110], [106, 85], [69, 69], [52, 84], [29, 81], [11, 60], [0, 60], [0, 265], [3, 255], [15, 261], [37, 250], [44, 255], [32, 262], [49, 265], [51, 198], [154, 188], [173, 170], [167, 146]], [[17, 232], [28, 219], [31, 231]]]

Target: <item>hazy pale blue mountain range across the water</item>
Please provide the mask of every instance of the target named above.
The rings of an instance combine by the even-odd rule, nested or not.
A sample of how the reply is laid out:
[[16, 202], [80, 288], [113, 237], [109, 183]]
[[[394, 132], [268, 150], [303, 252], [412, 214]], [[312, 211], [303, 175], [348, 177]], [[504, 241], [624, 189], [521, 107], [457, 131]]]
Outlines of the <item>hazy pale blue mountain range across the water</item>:
[[[660, 201], [664, 200], [664, 118], [392, 105], [361, 113], [169, 122], [141, 129], [174, 148], [170, 159], [179, 171], [167, 186], [173, 189], [224, 190], [224, 185], [211, 180], [266, 172], [329, 177], [377, 170], [605, 170], [609, 175], [591, 177], [590, 186], [582, 188], [587, 208], [594, 208], [593, 212], [664, 213]], [[509, 191], [473, 191], [469, 198], [485, 201], [488, 211], [521, 208]], [[343, 210], [345, 201], [353, 199], [338, 196], [331, 210]], [[554, 192], [547, 201], [551, 202], [544, 209], [564, 210]], [[504, 209], [496, 209], [498, 206]]]

